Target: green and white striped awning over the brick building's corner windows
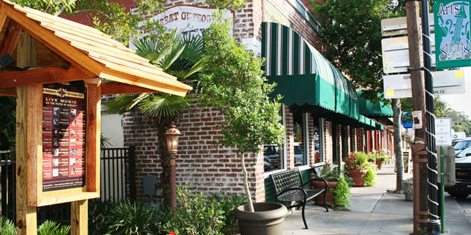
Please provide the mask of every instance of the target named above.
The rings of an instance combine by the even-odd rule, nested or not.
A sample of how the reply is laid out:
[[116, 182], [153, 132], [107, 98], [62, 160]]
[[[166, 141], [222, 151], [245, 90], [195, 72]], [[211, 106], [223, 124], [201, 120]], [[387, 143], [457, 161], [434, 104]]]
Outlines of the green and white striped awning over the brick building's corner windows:
[[311, 105], [358, 120], [358, 96], [335, 66], [293, 29], [262, 23], [265, 75], [287, 105]]

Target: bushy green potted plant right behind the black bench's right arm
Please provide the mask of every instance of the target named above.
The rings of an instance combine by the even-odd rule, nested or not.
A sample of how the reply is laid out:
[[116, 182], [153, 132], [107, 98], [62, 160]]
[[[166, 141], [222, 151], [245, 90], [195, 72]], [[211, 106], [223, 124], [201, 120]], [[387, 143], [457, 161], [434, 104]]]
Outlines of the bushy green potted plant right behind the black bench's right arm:
[[[348, 183], [348, 181], [351, 181], [350, 177], [346, 177], [342, 175], [341, 172], [332, 169], [329, 164], [324, 165], [319, 172], [314, 171], [314, 176], [315, 178], [323, 178], [327, 181], [327, 204], [337, 206], [346, 206], [348, 204], [351, 195], [350, 184]], [[342, 185], [342, 181], [345, 181], [346, 184]], [[323, 188], [325, 184], [322, 181], [312, 181], [311, 186], [320, 189]], [[342, 187], [342, 189], [337, 189], [337, 187]], [[315, 203], [324, 206], [324, 198], [316, 197]]]

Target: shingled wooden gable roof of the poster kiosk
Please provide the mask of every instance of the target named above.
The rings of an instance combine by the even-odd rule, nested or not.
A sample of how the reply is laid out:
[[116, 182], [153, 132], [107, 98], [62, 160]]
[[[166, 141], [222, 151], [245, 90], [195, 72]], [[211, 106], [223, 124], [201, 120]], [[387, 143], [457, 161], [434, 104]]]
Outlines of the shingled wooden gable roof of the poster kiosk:
[[[22, 31], [38, 43], [39, 68], [0, 73], [0, 95], [18, 86], [104, 78], [101, 95], [165, 92], [185, 96], [191, 88], [95, 28], [8, 1], [0, 1], [0, 56], [15, 58]], [[63, 68], [66, 67], [66, 68]]]

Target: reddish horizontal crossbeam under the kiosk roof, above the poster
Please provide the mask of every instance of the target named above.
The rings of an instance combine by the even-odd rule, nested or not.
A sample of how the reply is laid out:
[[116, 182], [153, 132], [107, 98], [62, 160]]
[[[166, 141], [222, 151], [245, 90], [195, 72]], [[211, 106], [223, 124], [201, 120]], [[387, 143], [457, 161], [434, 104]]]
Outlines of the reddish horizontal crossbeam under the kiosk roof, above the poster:
[[0, 74], [0, 88], [69, 82], [91, 79], [75, 66], [69, 69], [58, 67], [35, 68], [20, 72]]

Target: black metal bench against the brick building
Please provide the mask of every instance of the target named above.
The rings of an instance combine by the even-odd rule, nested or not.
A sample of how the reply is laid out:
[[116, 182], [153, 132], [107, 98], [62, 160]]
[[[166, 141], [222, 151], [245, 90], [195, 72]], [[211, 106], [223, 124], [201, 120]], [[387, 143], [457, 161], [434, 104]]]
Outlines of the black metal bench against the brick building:
[[[280, 173], [271, 174], [270, 178], [273, 182], [276, 192], [276, 202], [293, 202], [293, 204], [287, 206], [287, 208], [293, 208], [298, 206], [303, 206], [303, 222], [306, 229], [308, 224], [306, 223], [306, 217], [304, 216], [304, 208], [306, 203], [320, 194], [324, 193], [324, 205], [326, 207], [326, 212], [329, 212], [326, 202], [326, 193], [327, 193], [327, 181], [321, 178], [310, 179], [309, 181], [303, 183], [303, 177], [299, 169], [295, 168], [293, 170], [284, 171]], [[311, 183], [311, 181], [322, 180], [326, 184], [324, 189], [304, 189], [304, 186]]]

